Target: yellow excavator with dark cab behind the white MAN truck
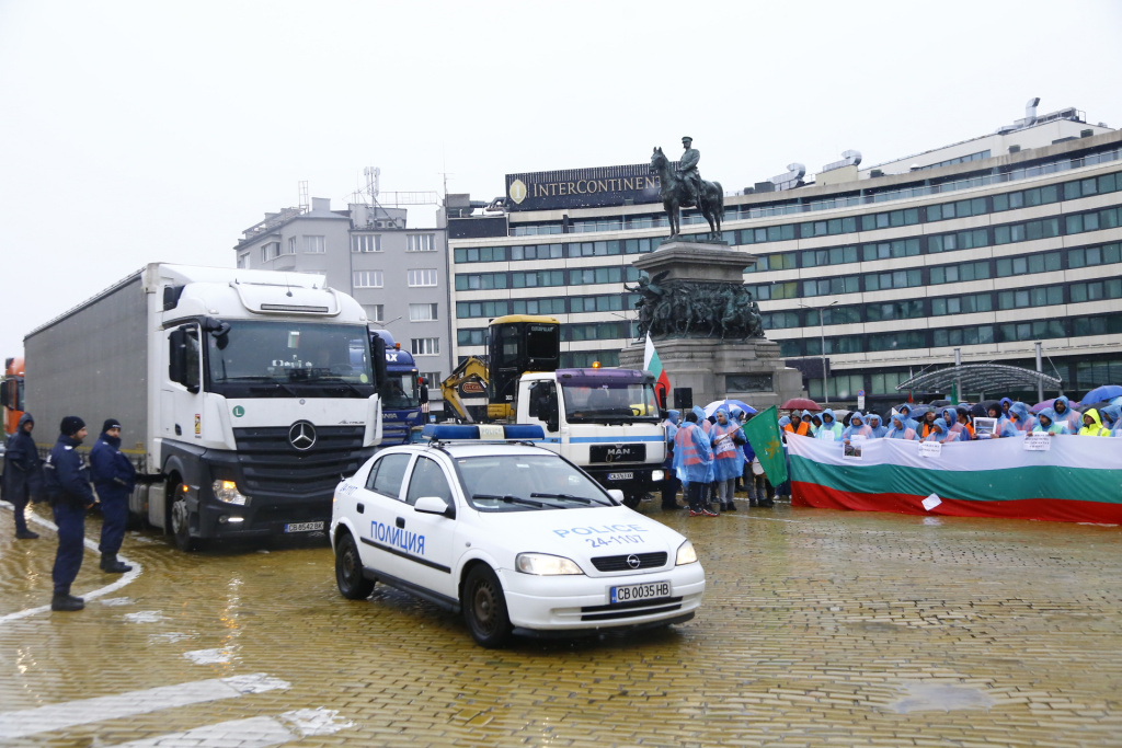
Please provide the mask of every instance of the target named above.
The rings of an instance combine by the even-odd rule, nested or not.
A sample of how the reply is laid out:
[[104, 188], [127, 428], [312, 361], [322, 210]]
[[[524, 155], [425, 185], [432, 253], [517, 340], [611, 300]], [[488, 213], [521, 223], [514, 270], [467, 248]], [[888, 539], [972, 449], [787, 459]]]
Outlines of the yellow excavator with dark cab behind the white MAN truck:
[[469, 357], [440, 384], [457, 417], [476, 423], [462, 398], [487, 396], [487, 421], [512, 421], [518, 377], [561, 366], [561, 323], [555, 317], [509, 314], [488, 327], [487, 361]]

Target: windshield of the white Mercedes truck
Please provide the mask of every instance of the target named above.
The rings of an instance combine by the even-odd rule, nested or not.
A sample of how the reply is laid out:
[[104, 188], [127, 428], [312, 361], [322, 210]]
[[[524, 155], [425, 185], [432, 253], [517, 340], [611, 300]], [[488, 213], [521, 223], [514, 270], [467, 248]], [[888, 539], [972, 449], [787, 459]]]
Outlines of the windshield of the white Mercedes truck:
[[370, 343], [360, 325], [230, 322], [209, 334], [209, 389], [227, 397], [370, 397]]

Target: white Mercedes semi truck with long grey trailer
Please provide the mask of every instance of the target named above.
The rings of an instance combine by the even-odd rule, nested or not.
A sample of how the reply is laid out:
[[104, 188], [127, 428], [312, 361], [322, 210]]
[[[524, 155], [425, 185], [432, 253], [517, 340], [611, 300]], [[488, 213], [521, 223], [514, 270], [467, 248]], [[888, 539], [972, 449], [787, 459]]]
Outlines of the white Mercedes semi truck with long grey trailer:
[[28, 333], [27, 408], [46, 445], [105, 418], [144, 480], [130, 510], [190, 551], [327, 529], [381, 441], [385, 351], [323, 276], [154, 262]]

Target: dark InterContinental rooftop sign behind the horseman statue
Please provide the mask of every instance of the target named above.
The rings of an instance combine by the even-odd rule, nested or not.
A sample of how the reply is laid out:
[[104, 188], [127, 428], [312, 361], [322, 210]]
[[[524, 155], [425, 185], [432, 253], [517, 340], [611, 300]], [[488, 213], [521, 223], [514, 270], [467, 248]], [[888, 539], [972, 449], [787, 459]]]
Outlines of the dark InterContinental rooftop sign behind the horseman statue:
[[649, 164], [506, 175], [511, 211], [659, 203], [659, 187]]

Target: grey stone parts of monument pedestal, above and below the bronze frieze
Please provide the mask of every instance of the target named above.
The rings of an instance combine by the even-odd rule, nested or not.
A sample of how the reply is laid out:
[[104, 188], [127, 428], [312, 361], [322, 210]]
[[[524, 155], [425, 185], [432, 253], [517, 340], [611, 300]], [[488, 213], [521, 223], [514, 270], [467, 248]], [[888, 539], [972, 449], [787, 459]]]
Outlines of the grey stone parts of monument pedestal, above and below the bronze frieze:
[[[741, 249], [705, 242], [665, 242], [650, 255], [642, 255], [634, 265], [666, 285], [674, 287], [702, 284], [718, 287], [744, 284], [744, 268], [756, 258]], [[665, 273], [665, 275], [661, 275]], [[674, 284], [673, 281], [680, 281]], [[649, 333], [651, 334], [651, 333]], [[792, 397], [806, 397], [802, 373], [783, 366], [779, 343], [765, 338], [720, 339], [720, 333], [652, 334], [662, 368], [671, 387], [692, 389], [695, 405], [734, 398], [757, 410], [779, 406]], [[619, 352], [619, 366], [643, 368], [645, 343], [632, 343]], [[668, 406], [673, 404], [672, 395]]]

